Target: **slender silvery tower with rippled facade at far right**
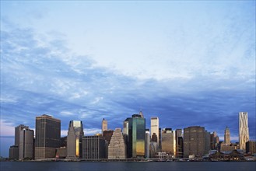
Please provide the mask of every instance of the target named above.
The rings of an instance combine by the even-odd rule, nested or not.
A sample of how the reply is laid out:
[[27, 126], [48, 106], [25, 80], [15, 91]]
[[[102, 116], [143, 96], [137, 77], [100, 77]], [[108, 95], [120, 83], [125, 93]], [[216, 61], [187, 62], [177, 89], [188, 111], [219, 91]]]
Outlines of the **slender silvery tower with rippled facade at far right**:
[[239, 147], [246, 150], [246, 142], [249, 141], [248, 113], [239, 113]]

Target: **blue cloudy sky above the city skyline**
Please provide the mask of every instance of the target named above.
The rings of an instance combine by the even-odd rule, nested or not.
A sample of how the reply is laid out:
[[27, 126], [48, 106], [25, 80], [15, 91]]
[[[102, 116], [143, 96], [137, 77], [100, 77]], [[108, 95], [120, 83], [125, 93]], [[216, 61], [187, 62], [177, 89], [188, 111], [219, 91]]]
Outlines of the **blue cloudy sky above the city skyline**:
[[85, 134], [142, 110], [174, 130], [256, 139], [255, 1], [1, 1], [1, 156], [49, 114]]

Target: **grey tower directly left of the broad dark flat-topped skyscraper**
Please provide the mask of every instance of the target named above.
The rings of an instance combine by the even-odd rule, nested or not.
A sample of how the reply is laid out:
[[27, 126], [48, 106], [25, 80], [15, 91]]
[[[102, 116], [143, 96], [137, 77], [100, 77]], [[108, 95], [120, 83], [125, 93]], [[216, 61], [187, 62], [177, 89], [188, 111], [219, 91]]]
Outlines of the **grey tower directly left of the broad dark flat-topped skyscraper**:
[[19, 131], [19, 159], [33, 159], [33, 130]]

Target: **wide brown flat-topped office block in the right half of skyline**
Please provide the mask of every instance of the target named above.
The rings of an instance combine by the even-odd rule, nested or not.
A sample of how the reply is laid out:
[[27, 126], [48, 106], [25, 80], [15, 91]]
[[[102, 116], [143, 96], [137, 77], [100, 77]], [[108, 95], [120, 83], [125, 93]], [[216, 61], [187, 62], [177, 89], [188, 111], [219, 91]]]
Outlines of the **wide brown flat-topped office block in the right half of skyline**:
[[202, 157], [205, 154], [205, 127], [184, 128], [184, 157], [195, 155]]

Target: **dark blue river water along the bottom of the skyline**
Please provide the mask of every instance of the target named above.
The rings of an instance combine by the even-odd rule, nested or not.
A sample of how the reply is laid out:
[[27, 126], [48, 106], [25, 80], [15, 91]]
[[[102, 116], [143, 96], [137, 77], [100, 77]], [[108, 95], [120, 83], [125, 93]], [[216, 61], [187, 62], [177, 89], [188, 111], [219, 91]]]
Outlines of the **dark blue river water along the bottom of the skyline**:
[[256, 162], [0, 162], [1, 171], [251, 171]]

